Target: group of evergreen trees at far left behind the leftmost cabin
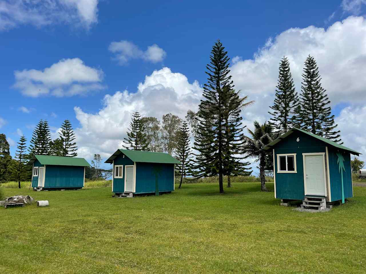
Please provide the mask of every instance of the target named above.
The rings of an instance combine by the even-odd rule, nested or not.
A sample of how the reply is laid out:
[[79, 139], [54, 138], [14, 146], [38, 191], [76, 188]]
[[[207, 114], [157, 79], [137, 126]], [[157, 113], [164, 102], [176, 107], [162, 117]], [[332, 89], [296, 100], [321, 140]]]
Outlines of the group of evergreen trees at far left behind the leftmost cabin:
[[27, 162], [33, 155], [66, 157], [78, 155], [74, 130], [70, 120], [67, 119], [62, 123], [59, 137], [55, 140], [51, 138], [48, 122], [41, 119], [33, 130], [29, 147], [26, 142], [26, 137], [21, 136], [13, 159], [5, 134], [0, 134], [0, 183], [18, 181], [20, 188], [20, 181], [29, 181], [32, 177], [32, 167], [27, 165]]

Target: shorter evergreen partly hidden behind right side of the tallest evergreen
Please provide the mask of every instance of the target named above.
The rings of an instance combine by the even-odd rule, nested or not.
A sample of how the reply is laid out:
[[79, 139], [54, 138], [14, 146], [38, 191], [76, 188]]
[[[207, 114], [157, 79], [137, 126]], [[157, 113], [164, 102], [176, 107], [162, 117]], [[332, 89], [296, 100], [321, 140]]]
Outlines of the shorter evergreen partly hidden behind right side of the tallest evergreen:
[[[231, 176], [251, 174], [249, 161], [243, 161], [240, 153], [243, 150], [243, 145], [246, 138], [243, 129], [246, 126], [242, 125], [241, 111], [254, 101], [245, 102], [248, 96], [240, 98], [240, 91], [236, 92], [228, 87], [223, 88], [224, 94], [224, 136], [225, 142], [223, 146], [224, 151], [224, 175], [227, 175], [227, 187], [231, 187]], [[245, 159], [245, 158], [244, 158]]]

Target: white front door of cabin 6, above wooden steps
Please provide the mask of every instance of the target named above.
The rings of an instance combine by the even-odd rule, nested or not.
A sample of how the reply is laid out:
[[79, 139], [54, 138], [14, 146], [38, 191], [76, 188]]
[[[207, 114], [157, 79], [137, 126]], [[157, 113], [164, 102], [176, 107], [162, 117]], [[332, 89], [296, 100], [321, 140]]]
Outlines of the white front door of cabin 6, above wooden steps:
[[[307, 195], [325, 195], [324, 156], [305, 156], [305, 179]], [[305, 195], [306, 195], [305, 194]]]

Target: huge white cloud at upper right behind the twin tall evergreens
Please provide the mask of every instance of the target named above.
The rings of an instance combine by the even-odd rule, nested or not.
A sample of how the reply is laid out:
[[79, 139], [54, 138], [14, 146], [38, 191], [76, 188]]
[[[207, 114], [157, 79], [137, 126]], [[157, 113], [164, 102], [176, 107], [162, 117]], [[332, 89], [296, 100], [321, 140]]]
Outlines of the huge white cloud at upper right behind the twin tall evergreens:
[[269, 39], [253, 59], [238, 61], [230, 67], [236, 89], [256, 101], [244, 112], [244, 123], [252, 127], [255, 119], [260, 122], [269, 119], [268, 106], [273, 103], [278, 64], [284, 55], [290, 61], [298, 93], [303, 63], [310, 54], [317, 61], [322, 86], [332, 106], [341, 102], [365, 102], [365, 42], [366, 20], [352, 16], [326, 30], [314, 26], [290, 28]]

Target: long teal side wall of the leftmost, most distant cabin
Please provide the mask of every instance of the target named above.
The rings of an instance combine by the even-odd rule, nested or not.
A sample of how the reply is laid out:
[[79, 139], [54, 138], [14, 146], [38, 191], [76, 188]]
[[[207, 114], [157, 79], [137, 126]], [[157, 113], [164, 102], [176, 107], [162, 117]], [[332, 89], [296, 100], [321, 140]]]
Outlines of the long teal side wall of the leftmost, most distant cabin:
[[84, 186], [84, 167], [46, 165], [44, 188]]

